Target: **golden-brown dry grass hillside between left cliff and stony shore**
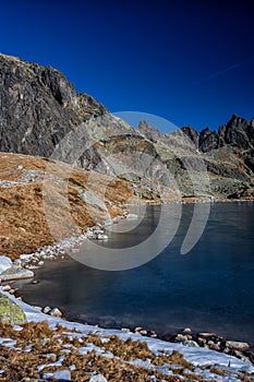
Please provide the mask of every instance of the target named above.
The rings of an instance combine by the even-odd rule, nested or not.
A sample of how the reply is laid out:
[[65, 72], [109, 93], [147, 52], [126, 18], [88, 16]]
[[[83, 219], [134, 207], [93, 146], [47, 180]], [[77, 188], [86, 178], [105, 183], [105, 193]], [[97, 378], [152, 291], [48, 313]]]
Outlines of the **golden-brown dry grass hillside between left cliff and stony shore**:
[[[26, 170], [47, 172], [46, 183], [41, 179], [21, 183]], [[53, 179], [50, 180], [51, 183], [47, 181], [49, 175]], [[0, 255], [5, 254], [12, 259], [21, 253], [32, 253], [56, 239], [78, 235], [87, 227], [102, 222], [105, 213], [86, 205], [78, 192], [92, 190], [104, 199], [112, 218], [122, 214], [119, 205], [133, 198], [128, 181], [28, 155], [0, 153], [0, 181], [2, 180], [20, 182], [9, 188], [0, 187]], [[46, 218], [45, 190], [51, 192], [47, 199], [47, 216], [50, 217], [51, 229]]]

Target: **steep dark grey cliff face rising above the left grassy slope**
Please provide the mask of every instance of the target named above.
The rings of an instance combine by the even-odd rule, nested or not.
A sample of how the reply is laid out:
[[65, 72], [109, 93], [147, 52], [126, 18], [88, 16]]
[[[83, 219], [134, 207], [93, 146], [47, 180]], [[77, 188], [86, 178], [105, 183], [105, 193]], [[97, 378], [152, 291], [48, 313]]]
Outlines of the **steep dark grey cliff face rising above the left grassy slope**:
[[63, 74], [0, 55], [0, 151], [50, 156], [56, 144], [92, 116], [107, 114], [77, 94]]

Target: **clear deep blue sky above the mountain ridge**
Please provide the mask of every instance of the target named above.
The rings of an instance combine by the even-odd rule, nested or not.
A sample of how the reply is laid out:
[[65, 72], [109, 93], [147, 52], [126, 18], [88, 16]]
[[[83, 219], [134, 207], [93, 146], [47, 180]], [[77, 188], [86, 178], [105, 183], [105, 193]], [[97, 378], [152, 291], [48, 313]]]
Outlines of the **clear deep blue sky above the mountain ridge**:
[[112, 112], [217, 129], [254, 117], [253, 20], [253, 0], [9, 0], [0, 51], [59, 69]]

